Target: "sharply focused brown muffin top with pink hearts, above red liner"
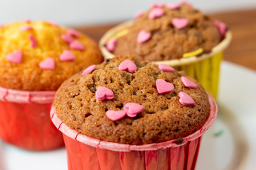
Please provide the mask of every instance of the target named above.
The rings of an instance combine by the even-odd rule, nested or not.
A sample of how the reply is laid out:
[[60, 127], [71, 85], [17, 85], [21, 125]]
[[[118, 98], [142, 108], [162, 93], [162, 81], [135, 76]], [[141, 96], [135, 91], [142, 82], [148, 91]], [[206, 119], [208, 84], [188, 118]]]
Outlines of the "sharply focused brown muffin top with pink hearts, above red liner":
[[63, 123], [89, 137], [143, 145], [186, 137], [209, 113], [206, 91], [171, 67], [119, 56], [66, 80], [53, 106]]

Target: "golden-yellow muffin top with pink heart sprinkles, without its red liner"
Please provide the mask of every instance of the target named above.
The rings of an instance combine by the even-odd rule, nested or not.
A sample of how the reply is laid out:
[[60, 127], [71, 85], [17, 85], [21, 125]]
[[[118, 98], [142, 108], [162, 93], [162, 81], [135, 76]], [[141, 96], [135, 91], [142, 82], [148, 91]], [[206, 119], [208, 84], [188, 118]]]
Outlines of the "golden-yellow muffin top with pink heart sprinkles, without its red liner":
[[102, 62], [97, 44], [82, 33], [46, 21], [0, 27], [0, 86], [54, 91], [68, 77]]

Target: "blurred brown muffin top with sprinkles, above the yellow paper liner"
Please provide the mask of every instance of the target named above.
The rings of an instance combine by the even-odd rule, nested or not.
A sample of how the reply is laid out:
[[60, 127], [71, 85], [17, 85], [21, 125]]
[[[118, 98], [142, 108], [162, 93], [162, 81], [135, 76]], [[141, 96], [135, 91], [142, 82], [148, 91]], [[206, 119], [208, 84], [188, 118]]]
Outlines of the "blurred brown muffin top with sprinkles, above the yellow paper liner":
[[213, 21], [190, 4], [154, 4], [140, 13], [132, 26], [121, 30], [115, 47], [107, 49], [114, 55], [134, 55], [139, 60], [180, 59], [189, 57], [184, 55], [189, 52], [210, 52], [225, 36], [223, 29], [224, 23]]

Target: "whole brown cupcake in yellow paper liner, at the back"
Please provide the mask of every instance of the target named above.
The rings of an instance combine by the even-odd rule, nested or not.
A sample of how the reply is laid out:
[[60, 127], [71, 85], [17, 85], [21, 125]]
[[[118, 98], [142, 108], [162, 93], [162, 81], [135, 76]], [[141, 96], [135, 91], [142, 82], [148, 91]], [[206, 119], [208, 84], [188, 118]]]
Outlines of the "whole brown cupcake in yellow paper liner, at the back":
[[230, 39], [225, 23], [191, 4], [154, 4], [134, 21], [109, 30], [100, 48], [105, 58], [134, 55], [183, 70], [216, 98], [220, 61]]

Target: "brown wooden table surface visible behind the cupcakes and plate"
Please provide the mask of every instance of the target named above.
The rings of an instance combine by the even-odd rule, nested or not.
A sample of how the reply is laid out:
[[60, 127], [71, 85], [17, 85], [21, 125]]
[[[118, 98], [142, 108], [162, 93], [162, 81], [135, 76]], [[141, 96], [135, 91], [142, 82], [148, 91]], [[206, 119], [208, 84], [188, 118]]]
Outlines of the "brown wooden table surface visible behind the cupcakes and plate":
[[[256, 8], [244, 11], [211, 14], [213, 18], [228, 24], [233, 40], [225, 50], [224, 60], [256, 70]], [[77, 28], [97, 42], [107, 30], [117, 23]]]

